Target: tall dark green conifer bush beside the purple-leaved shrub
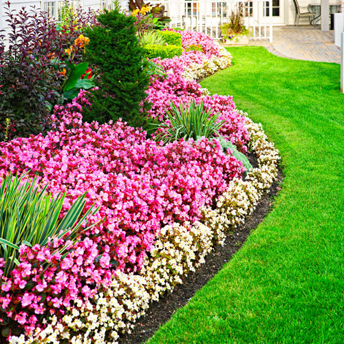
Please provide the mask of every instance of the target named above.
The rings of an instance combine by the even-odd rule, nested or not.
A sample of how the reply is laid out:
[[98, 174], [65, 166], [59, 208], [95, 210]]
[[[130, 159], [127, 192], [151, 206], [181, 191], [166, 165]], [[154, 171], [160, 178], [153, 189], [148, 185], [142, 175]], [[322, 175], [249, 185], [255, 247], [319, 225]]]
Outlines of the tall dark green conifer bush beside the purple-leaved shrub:
[[146, 120], [139, 110], [149, 72], [134, 27], [136, 18], [116, 9], [105, 10], [97, 19], [99, 26], [85, 29], [90, 40], [85, 53], [100, 73], [99, 90], [94, 92], [92, 108], [83, 110], [83, 118], [100, 123], [122, 118], [133, 127], [142, 127]]

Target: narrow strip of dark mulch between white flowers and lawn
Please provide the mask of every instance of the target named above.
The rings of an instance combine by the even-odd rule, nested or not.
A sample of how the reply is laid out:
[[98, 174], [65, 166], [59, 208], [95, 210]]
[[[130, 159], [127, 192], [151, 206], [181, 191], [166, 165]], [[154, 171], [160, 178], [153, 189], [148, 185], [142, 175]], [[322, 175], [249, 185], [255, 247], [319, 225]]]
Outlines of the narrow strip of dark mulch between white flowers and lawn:
[[[257, 164], [257, 160], [252, 156], [249, 157], [252, 166]], [[224, 246], [217, 246], [211, 254], [206, 257], [206, 264], [203, 264], [193, 273], [184, 279], [183, 284], [176, 286], [172, 293], [164, 294], [158, 302], [151, 303], [147, 314], [135, 324], [131, 334], [125, 334], [119, 339], [120, 344], [141, 344], [153, 336], [160, 325], [169, 321], [173, 313], [178, 308], [183, 307], [200, 290], [217, 271], [234, 255], [244, 244], [250, 232], [254, 230], [264, 217], [272, 209], [272, 202], [281, 189], [280, 185], [283, 180], [283, 173], [279, 169], [277, 180], [272, 184], [268, 193], [261, 200], [256, 210], [250, 215], [243, 226], [235, 230], [232, 235], [228, 235]]]

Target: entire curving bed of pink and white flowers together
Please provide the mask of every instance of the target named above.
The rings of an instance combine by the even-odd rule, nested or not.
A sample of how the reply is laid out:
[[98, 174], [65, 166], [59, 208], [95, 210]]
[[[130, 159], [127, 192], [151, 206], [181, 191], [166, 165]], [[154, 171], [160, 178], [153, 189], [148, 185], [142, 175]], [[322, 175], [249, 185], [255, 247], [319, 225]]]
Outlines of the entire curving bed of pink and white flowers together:
[[[10, 343], [116, 343], [151, 300], [204, 262], [275, 178], [277, 151], [261, 128], [235, 109], [231, 97], [202, 96], [193, 80], [228, 66], [230, 56], [204, 34], [182, 32], [182, 42], [184, 48], [201, 45], [203, 52], [155, 60], [167, 76], [151, 78], [150, 115], [162, 118], [171, 101], [202, 97], [226, 121], [222, 136], [244, 152], [250, 143], [259, 168], [244, 182], [241, 162], [216, 140], [164, 146], [122, 121], [83, 123], [87, 92], [56, 107], [55, 130], [46, 136], [1, 143], [1, 176], [30, 170], [53, 194], [67, 189], [65, 211], [87, 192], [87, 206], [100, 206], [94, 220], [105, 218], [70, 245], [66, 257], [54, 252], [62, 239], [44, 248], [21, 246], [19, 266], [1, 282], [7, 319], [25, 330]], [[43, 261], [52, 264], [43, 270]]]

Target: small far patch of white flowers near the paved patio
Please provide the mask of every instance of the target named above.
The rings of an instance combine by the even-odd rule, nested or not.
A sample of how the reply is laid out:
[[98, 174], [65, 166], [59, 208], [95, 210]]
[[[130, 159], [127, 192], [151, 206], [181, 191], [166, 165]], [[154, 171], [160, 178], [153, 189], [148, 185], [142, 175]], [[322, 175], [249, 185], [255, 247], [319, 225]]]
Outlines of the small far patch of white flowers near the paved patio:
[[182, 76], [189, 80], [200, 80], [217, 72], [220, 69], [229, 67], [232, 63], [232, 56], [224, 47], [219, 48], [219, 56], [204, 58], [202, 63], [191, 63], [184, 68]]

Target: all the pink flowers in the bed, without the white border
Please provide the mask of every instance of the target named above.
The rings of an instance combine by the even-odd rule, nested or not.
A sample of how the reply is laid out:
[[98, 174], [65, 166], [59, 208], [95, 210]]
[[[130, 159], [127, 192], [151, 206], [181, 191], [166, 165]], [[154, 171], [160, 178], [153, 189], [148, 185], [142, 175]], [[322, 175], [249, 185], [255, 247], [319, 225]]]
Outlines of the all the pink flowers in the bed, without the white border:
[[[226, 120], [222, 134], [244, 151], [248, 133], [233, 99], [200, 98], [200, 85], [182, 77], [184, 67], [217, 54], [217, 46], [202, 34], [182, 32], [182, 39], [185, 46], [202, 45], [206, 54], [185, 52], [157, 60], [167, 77], [151, 80], [151, 116], [161, 118], [171, 101], [203, 101]], [[41, 319], [63, 316], [72, 301], [92, 298], [98, 286], [110, 283], [116, 268], [140, 269], [164, 224], [200, 219], [200, 208], [211, 205], [228, 182], [245, 171], [241, 162], [206, 138], [163, 146], [121, 120], [83, 123], [81, 109], [87, 105], [87, 92], [81, 91], [72, 103], [56, 106], [54, 131], [0, 143], [0, 180], [7, 173], [29, 171], [54, 195], [67, 190], [63, 211], [87, 193], [86, 208], [100, 206], [91, 220], [103, 219], [83, 232], [73, 247], [63, 240], [45, 247], [21, 246], [20, 264], [11, 277], [1, 276], [0, 259], [0, 325], [12, 321], [12, 327], [19, 324], [29, 333]], [[67, 256], [61, 257], [58, 250], [64, 246]]]

